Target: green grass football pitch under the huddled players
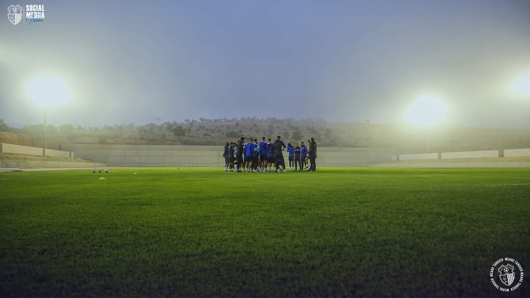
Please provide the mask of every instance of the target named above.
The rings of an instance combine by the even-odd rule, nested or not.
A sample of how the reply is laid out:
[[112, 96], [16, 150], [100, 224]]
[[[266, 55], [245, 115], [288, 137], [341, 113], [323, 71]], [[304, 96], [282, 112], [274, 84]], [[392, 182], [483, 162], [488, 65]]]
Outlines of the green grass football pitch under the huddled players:
[[2, 297], [499, 296], [529, 248], [530, 168], [0, 173]]

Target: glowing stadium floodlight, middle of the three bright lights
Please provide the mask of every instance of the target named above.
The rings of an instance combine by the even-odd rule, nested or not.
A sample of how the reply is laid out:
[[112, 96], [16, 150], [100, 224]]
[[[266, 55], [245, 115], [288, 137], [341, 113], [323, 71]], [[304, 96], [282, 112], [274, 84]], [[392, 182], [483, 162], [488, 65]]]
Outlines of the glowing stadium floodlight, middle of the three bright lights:
[[[438, 124], [447, 112], [447, 105], [438, 97], [423, 95], [413, 102], [405, 112], [407, 121], [418, 127], [431, 127]], [[427, 136], [427, 153], [429, 153], [429, 137]]]

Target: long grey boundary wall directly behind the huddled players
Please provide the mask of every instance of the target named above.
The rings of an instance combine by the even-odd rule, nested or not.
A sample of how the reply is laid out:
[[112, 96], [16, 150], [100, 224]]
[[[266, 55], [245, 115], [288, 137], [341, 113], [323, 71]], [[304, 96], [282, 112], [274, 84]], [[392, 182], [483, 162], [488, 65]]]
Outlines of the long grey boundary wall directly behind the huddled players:
[[[76, 157], [120, 167], [222, 167], [223, 146], [62, 144]], [[392, 149], [332, 148], [317, 150], [317, 166], [368, 166], [390, 161]], [[284, 151], [288, 165], [287, 152]]]

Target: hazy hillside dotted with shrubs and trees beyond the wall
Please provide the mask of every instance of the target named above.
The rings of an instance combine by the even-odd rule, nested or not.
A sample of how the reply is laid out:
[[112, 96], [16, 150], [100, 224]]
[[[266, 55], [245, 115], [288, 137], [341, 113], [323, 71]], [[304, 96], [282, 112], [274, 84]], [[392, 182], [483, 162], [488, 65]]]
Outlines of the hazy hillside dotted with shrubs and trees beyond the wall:
[[[43, 125], [22, 129], [3, 129], [0, 141], [26, 146], [42, 146]], [[384, 147], [399, 153], [530, 148], [530, 130], [432, 127], [359, 122], [330, 122], [323, 119], [199, 119], [164, 122], [161, 125], [81, 125], [48, 126], [48, 148], [61, 143], [99, 143], [136, 145], [215, 145], [239, 137], [274, 138], [287, 142], [314, 137], [326, 147]]]

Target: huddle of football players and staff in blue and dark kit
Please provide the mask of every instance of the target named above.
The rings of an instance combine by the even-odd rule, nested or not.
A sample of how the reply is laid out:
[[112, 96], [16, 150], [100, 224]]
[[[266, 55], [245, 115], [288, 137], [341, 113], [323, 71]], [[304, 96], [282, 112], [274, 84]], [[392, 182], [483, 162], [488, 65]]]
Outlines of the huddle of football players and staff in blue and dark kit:
[[[311, 142], [313, 138], [309, 141]], [[314, 142], [314, 141], [313, 141]], [[283, 152], [287, 149], [289, 156], [289, 169], [295, 171], [314, 171], [313, 167], [308, 167], [308, 149], [304, 142], [291, 145], [276, 137], [275, 141], [265, 137], [250, 139], [245, 142], [242, 137], [237, 142], [226, 142], [223, 157], [225, 158], [225, 172], [235, 171], [236, 173], [271, 173], [275, 171], [287, 172]], [[316, 151], [316, 150], [315, 150]]]

